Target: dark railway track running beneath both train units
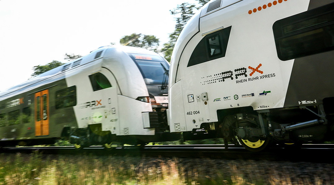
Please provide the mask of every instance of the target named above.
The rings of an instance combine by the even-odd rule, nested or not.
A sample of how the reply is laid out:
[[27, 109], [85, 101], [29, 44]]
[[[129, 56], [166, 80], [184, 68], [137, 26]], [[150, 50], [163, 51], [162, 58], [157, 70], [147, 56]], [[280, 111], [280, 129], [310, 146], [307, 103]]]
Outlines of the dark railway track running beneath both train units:
[[163, 157], [193, 157], [193, 158], [225, 158], [243, 160], [269, 160], [269, 161], [305, 161], [305, 162], [334, 162], [334, 145], [302, 145], [301, 149], [284, 149], [278, 145], [263, 152], [249, 152], [244, 148], [229, 145], [147, 145], [142, 148], [124, 146], [110, 151], [102, 146], [91, 146], [80, 151], [74, 147], [4, 147], [1, 153], [32, 153], [38, 151], [42, 154], [59, 155], [125, 155], [125, 156], [163, 156]]

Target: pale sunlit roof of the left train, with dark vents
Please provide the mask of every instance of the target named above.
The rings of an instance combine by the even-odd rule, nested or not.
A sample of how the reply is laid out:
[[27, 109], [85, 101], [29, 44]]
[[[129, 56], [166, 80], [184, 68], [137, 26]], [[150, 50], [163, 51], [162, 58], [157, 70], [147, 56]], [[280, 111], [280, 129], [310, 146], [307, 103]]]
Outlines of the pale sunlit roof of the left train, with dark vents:
[[[98, 60], [100, 58], [103, 58], [103, 55], [105, 53], [105, 50], [107, 49], [118, 49], [120, 51], [123, 51], [125, 53], [141, 53], [141, 54], [150, 54], [150, 55], [158, 55], [157, 53], [143, 49], [138, 47], [132, 47], [132, 46], [123, 46], [123, 45], [111, 45], [111, 46], [102, 46], [98, 48], [97, 50], [91, 51], [88, 55], [82, 56], [74, 61], [65, 63], [59, 67], [56, 67], [54, 69], [51, 69], [49, 71], [46, 71], [40, 75], [37, 75], [31, 79], [28, 79], [27, 81], [20, 83], [18, 85], [9, 87], [8, 89], [5, 89], [0, 92], [0, 101], [7, 99], [9, 97], [15, 96], [16, 93], [12, 94], [13, 92], [20, 91], [20, 93], [23, 93], [23, 91], [30, 90], [25, 88], [32, 86], [33, 84], [40, 83], [43, 81], [46, 81], [49, 78], [57, 78], [59, 79], [64, 78], [64, 73], [70, 70], [75, 70], [77, 67], [85, 65], [87, 63], [90, 63], [92, 61]], [[61, 77], [62, 76], [62, 77]], [[41, 84], [43, 85], [43, 84]]]

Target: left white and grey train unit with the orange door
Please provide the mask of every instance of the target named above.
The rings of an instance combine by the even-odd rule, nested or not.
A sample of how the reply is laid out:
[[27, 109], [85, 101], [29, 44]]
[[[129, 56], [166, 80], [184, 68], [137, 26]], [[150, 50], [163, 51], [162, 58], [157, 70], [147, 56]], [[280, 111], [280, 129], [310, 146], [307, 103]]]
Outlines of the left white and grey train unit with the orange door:
[[178, 140], [167, 125], [168, 70], [155, 52], [105, 46], [1, 91], [0, 146]]

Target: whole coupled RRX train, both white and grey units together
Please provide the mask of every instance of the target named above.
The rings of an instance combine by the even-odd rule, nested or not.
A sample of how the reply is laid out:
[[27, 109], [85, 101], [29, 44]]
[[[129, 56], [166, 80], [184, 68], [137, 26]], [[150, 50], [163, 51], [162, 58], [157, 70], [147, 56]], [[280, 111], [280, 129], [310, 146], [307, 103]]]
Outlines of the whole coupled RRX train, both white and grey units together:
[[333, 56], [334, 0], [211, 0], [171, 64], [104, 46], [0, 92], [0, 146], [222, 138], [259, 152], [330, 141]]

